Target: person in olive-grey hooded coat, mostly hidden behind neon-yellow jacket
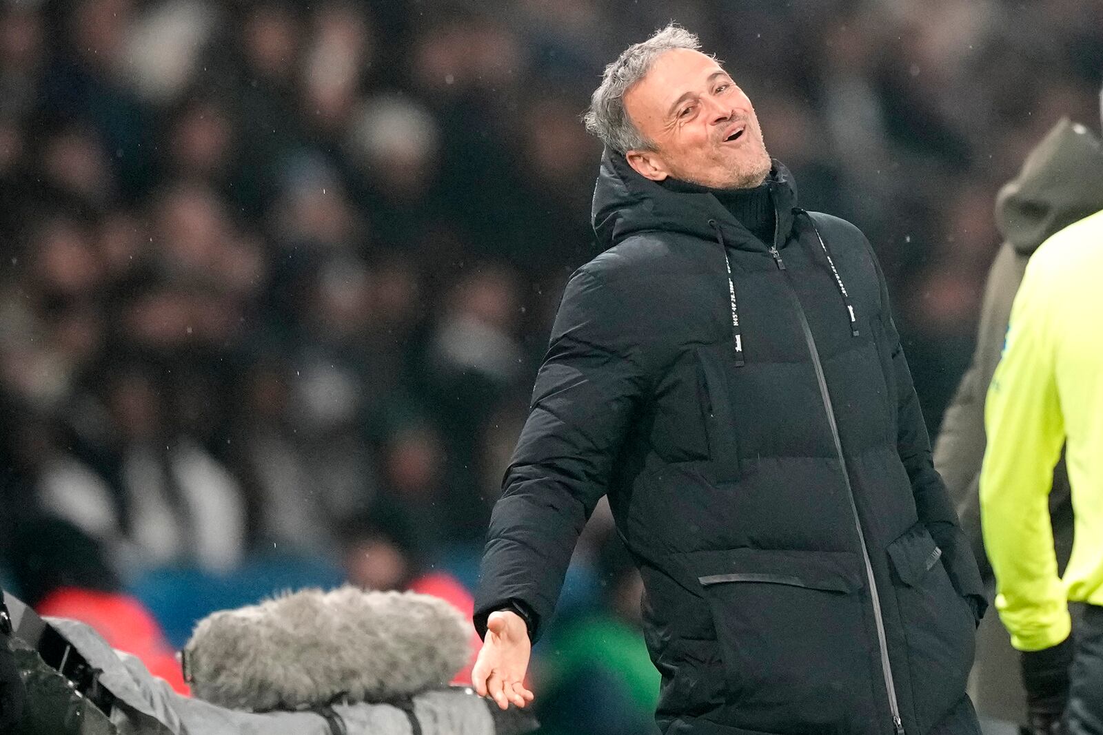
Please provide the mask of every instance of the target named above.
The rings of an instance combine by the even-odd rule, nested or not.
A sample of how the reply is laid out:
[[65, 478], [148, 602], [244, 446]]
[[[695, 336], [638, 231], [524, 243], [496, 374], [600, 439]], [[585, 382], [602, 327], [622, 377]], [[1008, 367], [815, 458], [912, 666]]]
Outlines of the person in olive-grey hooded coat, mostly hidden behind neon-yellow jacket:
[[[1103, 209], [1103, 151], [1084, 126], [1061, 120], [1030, 153], [1019, 175], [996, 202], [996, 221], [1005, 237], [985, 285], [981, 325], [972, 365], [946, 410], [934, 446], [934, 464], [946, 482], [962, 526], [970, 537], [989, 596], [995, 580], [981, 533], [979, 478], [986, 434], [985, 393], [999, 361], [1011, 303], [1027, 261], [1050, 236]], [[1064, 462], [1052, 474], [1050, 518], [1058, 569], [1072, 548], [1072, 506]], [[1018, 673], [1018, 655], [995, 616], [981, 624], [971, 694], [982, 716], [1026, 726], [1031, 717]], [[1050, 712], [1050, 720], [1059, 714]], [[1046, 718], [1037, 712], [1036, 718]], [[1029, 732], [1029, 731], [1024, 731]]]

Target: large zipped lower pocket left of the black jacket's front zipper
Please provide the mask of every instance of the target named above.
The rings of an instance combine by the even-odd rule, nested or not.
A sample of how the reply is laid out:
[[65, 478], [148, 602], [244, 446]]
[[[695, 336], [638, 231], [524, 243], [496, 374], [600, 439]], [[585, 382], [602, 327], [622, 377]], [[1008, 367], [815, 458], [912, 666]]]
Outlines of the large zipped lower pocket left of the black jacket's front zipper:
[[872, 639], [849, 552], [694, 552], [739, 725], [850, 732], [875, 716]]

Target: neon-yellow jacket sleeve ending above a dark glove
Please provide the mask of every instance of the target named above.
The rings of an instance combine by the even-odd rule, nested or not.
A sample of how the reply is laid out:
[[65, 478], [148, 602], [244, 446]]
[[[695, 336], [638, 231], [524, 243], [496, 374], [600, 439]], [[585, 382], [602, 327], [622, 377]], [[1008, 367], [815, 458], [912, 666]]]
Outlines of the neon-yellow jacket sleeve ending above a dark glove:
[[1011, 645], [1031, 651], [1069, 636], [1049, 493], [1064, 443], [1051, 344], [1054, 283], [1037, 257], [1011, 307], [1004, 355], [988, 387], [981, 522], [996, 575], [996, 608]]

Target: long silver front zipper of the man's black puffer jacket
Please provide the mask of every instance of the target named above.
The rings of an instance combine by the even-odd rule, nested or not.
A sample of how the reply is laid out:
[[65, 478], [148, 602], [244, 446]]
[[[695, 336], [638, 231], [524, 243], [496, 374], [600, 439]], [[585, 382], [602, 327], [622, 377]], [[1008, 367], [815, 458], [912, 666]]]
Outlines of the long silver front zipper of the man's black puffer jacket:
[[773, 258], [778, 270], [785, 273], [785, 280], [792, 289], [793, 303], [796, 306], [796, 314], [801, 320], [801, 328], [804, 331], [804, 342], [808, 346], [812, 355], [812, 366], [816, 371], [816, 381], [820, 383], [820, 396], [823, 398], [824, 411], [827, 413], [827, 423], [831, 426], [832, 439], [835, 441], [835, 455], [838, 458], [839, 467], [843, 471], [843, 482], [846, 484], [846, 497], [850, 501], [850, 512], [854, 515], [854, 528], [858, 532], [858, 542], [861, 545], [861, 561], [866, 565], [866, 579], [869, 581], [869, 597], [874, 605], [874, 621], [877, 625], [877, 644], [881, 653], [881, 673], [885, 677], [885, 689], [889, 695], [889, 711], [892, 714], [892, 726], [896, 735], [904, 735], [903, 721], [900, 718], [900, 705], [897, 702], [896, 684], [892, 681], [892, 667], [889, 662], [888, 640], [885, 636], [885, 620], [881, 617], [881, 603], [877, 594], [877, 580], [874, 577], [874, 565], [869, 562], [869, 549], [866, 547], [866, 533], [861, 530], [861, 519], [858, 516], [858, 505], [854, 499], [854, 487], [850, 485], [850, 475], [846, 469], [846, 456], [843, 454], [843, 442], [838, 436], [838, 425], [835, 423], [835, 408], [832, 406], [831, 394], [827, 392], [827, 379], [824, 377], [823, 364], [820, 361], [820, 350], [816, 349], [816, 341], [812, 336], [812, 327], [804, 315], [804, 307], [796, 296], [796, 289], [793, 284], [793, 277], [785, 269], [785, 262], [781, 259], [781, 251], [778, 249], [778, 212], [773, 213], [774, 242], [770, 246], [770, 256]]

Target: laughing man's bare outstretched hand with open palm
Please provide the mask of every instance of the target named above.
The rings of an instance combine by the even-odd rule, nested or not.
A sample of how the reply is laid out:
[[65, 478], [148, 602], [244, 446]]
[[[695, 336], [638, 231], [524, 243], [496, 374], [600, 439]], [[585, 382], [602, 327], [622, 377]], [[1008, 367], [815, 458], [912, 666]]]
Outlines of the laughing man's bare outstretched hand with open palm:
[[531, 652], [528, 627], [521, 616], [510, 610], [491, 613], [483, 647], [471, 671], [479, 695], [491, 696], [503, 710], [511, 702], [518, 707], [532, 702], [534, 695], [525, 689]]

